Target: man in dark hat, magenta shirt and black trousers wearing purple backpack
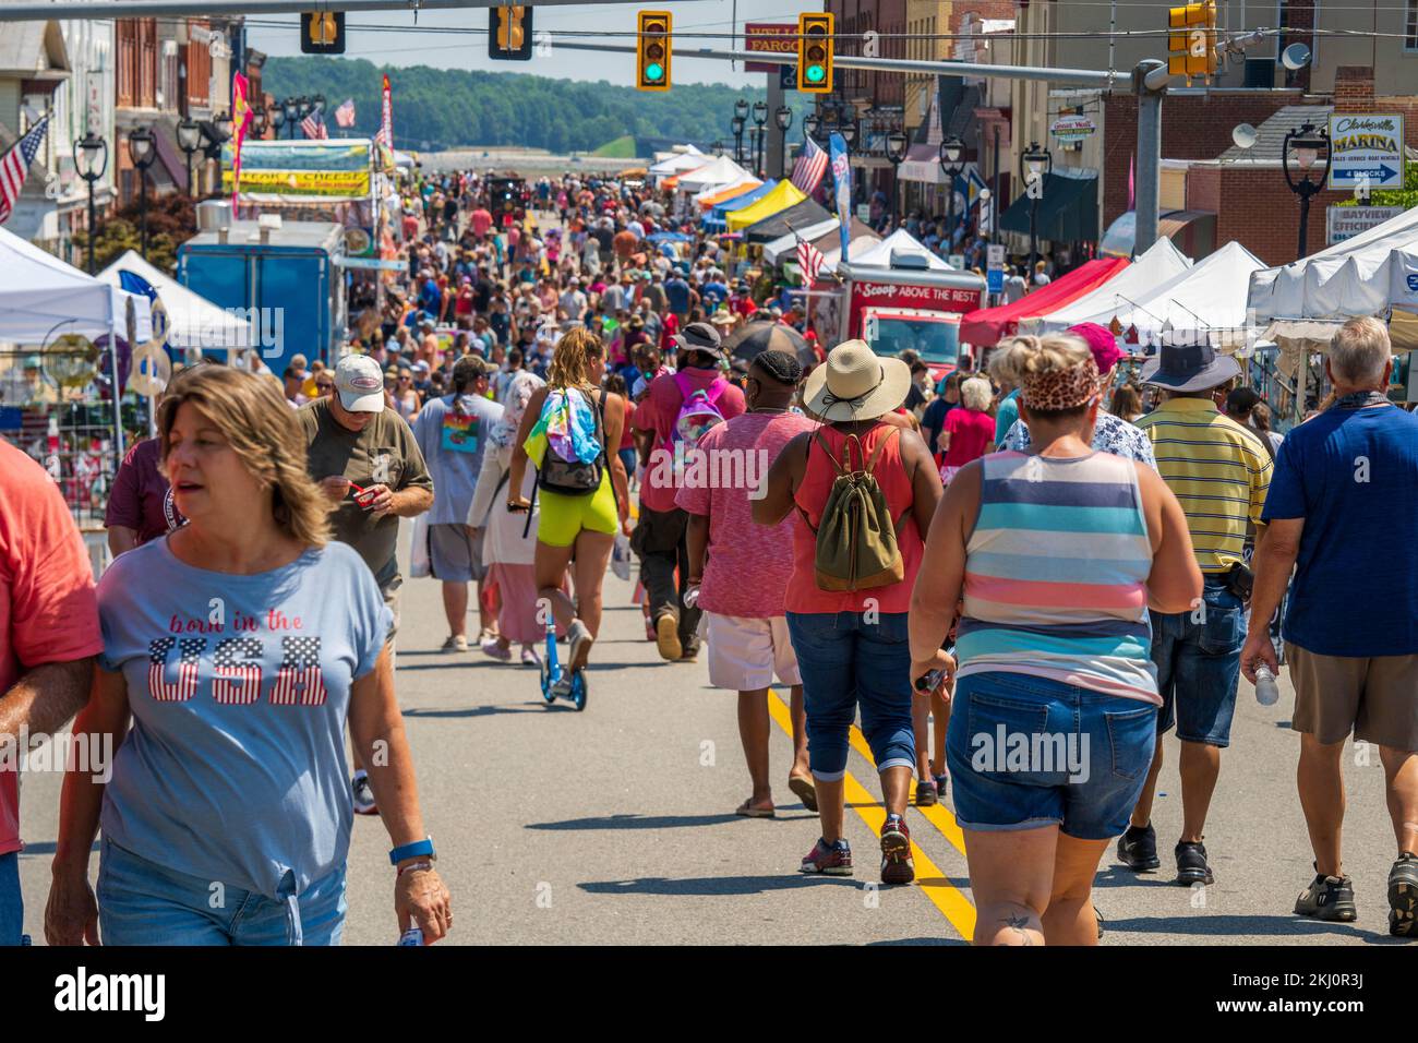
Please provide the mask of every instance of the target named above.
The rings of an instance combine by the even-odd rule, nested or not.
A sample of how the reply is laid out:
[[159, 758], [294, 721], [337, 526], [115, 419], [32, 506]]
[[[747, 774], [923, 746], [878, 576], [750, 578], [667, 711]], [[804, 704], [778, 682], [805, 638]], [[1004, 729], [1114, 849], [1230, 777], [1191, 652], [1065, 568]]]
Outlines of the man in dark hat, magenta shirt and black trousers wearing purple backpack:
[[[708, 322], [685, 326], [676, 338], [679, 372], [657, 376], [635, 409], [631, 427], [652, 433], [645, 484], [640, 491], [640, 522], [631, 546], [640, 555], [641, 579], [649, 595], [655, 643], [666, 660], [693, 660], [699, 654], [699, 609], [683, 607], [689, 586], [689, 517], [675, 505], [679, 475], [675, 473], [675, 426], [685, 396], [705, 392], [725, 420], [744, 412], [743, 392], [719, 372], [723, 342]], [[675, 585], [675, 570], [679, 585]]]

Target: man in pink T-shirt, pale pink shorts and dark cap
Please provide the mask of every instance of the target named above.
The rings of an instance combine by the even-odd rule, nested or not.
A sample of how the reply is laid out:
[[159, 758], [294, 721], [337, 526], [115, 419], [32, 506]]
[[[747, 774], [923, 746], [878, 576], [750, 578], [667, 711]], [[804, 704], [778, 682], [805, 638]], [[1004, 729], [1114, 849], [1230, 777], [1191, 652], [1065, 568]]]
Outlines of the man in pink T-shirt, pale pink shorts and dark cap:
[[[793, 519], [756, 525], [753, 500], [783, 447], [813, 421], [791, 413], [803, 366], [786, 352], [769, 351], [749, 368], [749, 412], [712, 427], [699, 440], [703, 474], [685, 481], [675, 502], [689, 512], [689, 596], [708, 620], [709, 684], [739, 692], [739, 739], [753, 793], [736, 815], [774, 817], [769, 785], [769, 685], [793, 687], [793, 768], [788, 789], [817, 810], [807, 759], [807, 721], [797, 656], [788, 640], [784, 596], [793, 575]], [[686, 475], [691, 474], [686, 468]], [[705, 561], [708, 551], [708, 562]], [[744, 576], [753, 582], [746, 583]]]

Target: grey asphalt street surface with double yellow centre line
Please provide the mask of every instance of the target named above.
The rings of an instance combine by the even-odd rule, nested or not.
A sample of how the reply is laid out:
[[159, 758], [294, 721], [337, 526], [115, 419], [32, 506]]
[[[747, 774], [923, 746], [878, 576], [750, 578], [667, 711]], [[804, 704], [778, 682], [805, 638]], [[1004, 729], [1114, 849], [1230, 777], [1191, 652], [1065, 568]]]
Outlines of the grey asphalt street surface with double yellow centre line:
[[[407, 541], [404, 541], [407, 542]], [[859, 736], [848, 783], [847, 836], [855, 878], [815, 878], [797, 863], [818, 836], [815, 816], [787, 790], [786, 705], [774, 718], [778, 817], [735, 817], [747, 796], [735, 695], [708, 687], [698, 664], [665, 664], [644, 640], [631, 585], [607, 578], [603, 637], [584, 712], [546, 708], [537, 674], [479, 651], [438, 651], [447, 624], [432, 580], [404, 585], [397, 685], [417, 758], [420, 799], [454, 895], [450, 944], [960, 944], [974, 910], [950, 802], [908, 819], [917, 884], [876, 887], [875, 829], [883, 812]], [[472, 620], [475, 630], [475, 620]], [[1106, 945], [1363, 944], [1387, 935], [1384, 884], [1392, 839], [1377, 751], [1344, 758], [1346, 868], [1356, 924], [1290, 912], [1312, 878], [1295, 796], [1292, 692], [1255, 702], [1242, 681], [1232, 746], [1222, 761], [1207, 847], [1217, 883], [1170, 883], [1181, 823], [1176, 739], [1154, 822], [1163, 871], [1136, 876], [1109, 854], [1095, 903]], [[786, 692], [784, 692], [786, 700]], [[28, 773], [20, 859], [27, 929], [43, 939], [60, 776]], [[389, 837], [356, 817], [345, 942], [393, 944]], [[96, 854], [94, 877], [96, 878]], [[1401, 944], [1401, 942], [1400, 942]]]

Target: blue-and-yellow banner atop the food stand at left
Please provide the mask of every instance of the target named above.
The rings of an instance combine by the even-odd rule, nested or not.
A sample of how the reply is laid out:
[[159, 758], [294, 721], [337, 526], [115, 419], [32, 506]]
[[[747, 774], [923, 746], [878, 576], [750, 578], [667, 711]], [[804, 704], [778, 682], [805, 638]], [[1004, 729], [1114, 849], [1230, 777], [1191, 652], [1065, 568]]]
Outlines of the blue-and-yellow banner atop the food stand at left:
[[[221, 149], [223, 190], [237, 187], [231, 142]], [[372, 193], [373, 145], [369, 140], [248, 140], [241, 146], [244, 203], [298, 203], [322, 199], [367, 200]]]

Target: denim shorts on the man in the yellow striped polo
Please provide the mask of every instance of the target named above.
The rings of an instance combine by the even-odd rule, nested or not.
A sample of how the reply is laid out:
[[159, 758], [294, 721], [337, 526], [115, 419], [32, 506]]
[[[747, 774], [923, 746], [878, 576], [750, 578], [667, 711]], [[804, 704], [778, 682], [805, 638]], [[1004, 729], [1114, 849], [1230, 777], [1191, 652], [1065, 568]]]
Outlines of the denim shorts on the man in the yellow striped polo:
[[1153, 663], [1163, 707], [1157, 732], [1177, 725], [1177, 738], [1208, 746], [1231, 745], [1241, 646], [1249, 612], [1227, 590], [1224, 576], [1204, 576], [1198, 612], [1154, 612]]

